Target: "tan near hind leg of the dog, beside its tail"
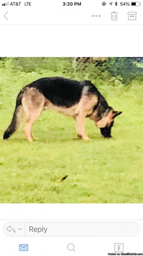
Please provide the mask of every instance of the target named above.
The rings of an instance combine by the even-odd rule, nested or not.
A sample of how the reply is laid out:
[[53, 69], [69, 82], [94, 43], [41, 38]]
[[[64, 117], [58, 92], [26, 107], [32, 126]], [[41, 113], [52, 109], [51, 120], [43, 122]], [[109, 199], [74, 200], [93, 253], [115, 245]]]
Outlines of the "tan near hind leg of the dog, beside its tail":
[[32, 141], [31, 128], [36, 119], [41, 115], [45, 100], [38, 92], [37, 95], [30, 94], [22, 99], [22, 106], [27, 117], [27, 123], [24, 127], [24, 133], [27, 140]]

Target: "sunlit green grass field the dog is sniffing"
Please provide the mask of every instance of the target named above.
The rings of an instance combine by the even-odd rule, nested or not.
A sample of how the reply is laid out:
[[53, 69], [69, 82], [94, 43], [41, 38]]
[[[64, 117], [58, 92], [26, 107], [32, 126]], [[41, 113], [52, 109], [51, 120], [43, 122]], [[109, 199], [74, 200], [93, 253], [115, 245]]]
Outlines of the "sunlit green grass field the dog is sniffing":
[[137, 81], [128, 87], [98, 82], [109, 105], [123, 111], [109, 140], [88, 119], [91, 140], [77, 140], [74, 120], [51, 111], [36, 121], [34, 142], [22, 127], [2, 139], [20, 89], [55, 75], [64, 76], [0, 69], [0, 203], [143, 203], [143, 84]]

